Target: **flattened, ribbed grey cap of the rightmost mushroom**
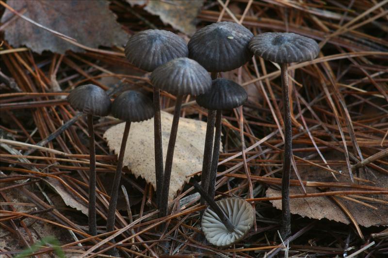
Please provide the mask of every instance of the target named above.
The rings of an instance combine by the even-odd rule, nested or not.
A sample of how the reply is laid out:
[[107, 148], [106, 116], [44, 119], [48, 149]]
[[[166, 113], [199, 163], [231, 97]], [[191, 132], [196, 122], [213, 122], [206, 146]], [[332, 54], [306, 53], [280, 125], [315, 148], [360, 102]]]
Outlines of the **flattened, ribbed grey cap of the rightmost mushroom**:
[[249, 43], [249, 48], [256, 56], [275, 63], [309, 61], [319, 53], [315, 40], [295, 33], [282, 32], [256, 35]]

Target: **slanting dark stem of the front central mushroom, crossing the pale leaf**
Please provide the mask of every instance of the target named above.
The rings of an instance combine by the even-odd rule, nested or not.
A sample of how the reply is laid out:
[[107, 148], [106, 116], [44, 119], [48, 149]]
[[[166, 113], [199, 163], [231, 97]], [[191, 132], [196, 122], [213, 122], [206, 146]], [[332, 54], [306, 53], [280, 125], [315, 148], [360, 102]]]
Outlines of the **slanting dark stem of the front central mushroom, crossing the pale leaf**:
[[164, 217], [167, 215], [168, 192], [170, 189], [171, 169], [173, 167], [175, 141], [177, 139], [178, 123], [179, 123], [179, 116], [180, 116], [180, 107], [182, 106], [182, 99], [183, 99], [183, 95], [177, 96], [173, 122], [171, 125], [170, 138], [168, 140], [166, 164], [164, 167], [164, 174], [163, 174], [161, 207], [159, 208], [161, 217]]

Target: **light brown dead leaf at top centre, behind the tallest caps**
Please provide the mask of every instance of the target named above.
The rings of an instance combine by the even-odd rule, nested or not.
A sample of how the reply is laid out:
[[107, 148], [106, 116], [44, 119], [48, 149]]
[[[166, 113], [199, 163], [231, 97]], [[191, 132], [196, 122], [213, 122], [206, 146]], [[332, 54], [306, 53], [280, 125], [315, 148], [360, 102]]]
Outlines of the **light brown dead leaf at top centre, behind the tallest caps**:
[[[130, 5], [142, 5], [144, 1], [128, 1]], [[186, 34], [194, 34], [196, 17], [203, 5], [203, 0], [163, 0], [148, 1], [144, 10], [159, 15], [162, 22]]]

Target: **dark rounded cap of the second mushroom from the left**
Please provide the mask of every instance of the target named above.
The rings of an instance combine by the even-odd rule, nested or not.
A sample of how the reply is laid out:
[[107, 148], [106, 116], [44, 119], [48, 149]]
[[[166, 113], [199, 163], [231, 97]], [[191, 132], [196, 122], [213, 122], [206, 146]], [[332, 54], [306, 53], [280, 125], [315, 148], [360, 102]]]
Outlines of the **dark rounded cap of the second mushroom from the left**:
[[112, 115], [123, 121], [141, 122], [154, 116], [154, 108], [143, 93], [124, 91], [113, 101]]

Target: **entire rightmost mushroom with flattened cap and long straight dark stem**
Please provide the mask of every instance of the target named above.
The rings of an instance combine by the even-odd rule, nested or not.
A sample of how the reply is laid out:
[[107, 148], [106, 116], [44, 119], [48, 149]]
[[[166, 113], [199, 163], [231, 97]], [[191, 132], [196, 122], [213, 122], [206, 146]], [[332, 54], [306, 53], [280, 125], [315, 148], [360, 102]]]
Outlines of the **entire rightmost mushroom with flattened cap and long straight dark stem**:
[[287, 68], [291, 62], [313, 60], [318, 56], [319, 46], [310, 38], [295, 33], [266, 32], [256, 35], [249, 43], [255, 56], [280, 65], [284, 106], [284, 161], [282, 175], [282, 237], [291, 234], [290, 173], [292, 155], [292, 128]]

